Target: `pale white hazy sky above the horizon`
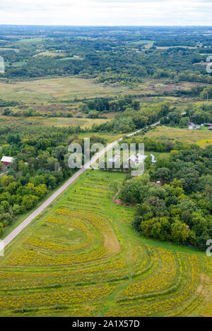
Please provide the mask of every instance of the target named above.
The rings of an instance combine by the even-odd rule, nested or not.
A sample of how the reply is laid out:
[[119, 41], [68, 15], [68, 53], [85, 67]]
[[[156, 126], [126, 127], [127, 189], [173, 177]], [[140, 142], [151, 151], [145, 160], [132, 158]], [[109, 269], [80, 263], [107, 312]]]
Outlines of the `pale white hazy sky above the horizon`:
[[0, 24], [212, 25], [212, 0], [0, 0]]

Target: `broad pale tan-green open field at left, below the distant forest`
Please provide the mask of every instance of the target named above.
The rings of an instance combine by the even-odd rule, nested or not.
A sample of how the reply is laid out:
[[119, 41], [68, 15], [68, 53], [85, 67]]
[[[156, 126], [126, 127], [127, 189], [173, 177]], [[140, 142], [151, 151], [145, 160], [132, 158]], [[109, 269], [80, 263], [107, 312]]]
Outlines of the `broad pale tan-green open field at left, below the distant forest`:
[[104, 87], [89, 79], [50, 78], [18, 81], [11, 84], [0, 82], [0, 98], [4, 100], [20, 100], [23, 102], [48, 102], [61, 98], [70, 100], [74, 97], [96, 97], [115, 95], [124, 87]]

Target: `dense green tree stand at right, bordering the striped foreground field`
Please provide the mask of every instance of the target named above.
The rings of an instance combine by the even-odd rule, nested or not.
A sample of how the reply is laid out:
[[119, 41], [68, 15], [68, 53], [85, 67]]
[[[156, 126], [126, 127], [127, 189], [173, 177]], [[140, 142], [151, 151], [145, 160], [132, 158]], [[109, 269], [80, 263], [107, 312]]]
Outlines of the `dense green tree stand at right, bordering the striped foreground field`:
[[141, 235], [204, 251], [212, 237], [212, 146], [175, 148], [168, 159], [147, 162], [148, 174], [127, 177], [120, 197], [136, 203], [133, 226]]

